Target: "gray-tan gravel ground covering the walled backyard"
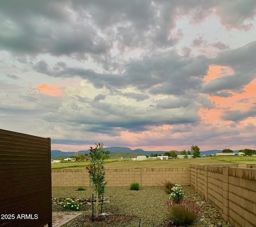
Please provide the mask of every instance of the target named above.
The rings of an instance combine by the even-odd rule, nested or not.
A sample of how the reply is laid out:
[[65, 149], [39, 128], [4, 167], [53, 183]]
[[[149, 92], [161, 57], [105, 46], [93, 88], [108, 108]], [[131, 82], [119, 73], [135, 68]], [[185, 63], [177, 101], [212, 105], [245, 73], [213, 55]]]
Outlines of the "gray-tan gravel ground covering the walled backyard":
[[[77, 187], [52, 187], [55, 199], [91, 200], [92, 188], [84, 187], [84, 191], [76, 191]], [[186, 198], [200, 205], [198, 219], [191, 227], [232, 227], [226, 223], [216, 209], [190, 186], [182, 187]], [[143, 186], [139, 191], [131, 191], [129, 187], [106, 187], [102, 213], [108, 213], [92, 222], [92, 205], [84, 205], [83, 214], [66, 223], [63, 227], [174, 227], [168, 219], [166, 201], [168, 195], [163, 186]], [[62, 211], [60, 205], [52, 206], [53, 212]], [[62, 211], [63, 212], [63, 211]]]

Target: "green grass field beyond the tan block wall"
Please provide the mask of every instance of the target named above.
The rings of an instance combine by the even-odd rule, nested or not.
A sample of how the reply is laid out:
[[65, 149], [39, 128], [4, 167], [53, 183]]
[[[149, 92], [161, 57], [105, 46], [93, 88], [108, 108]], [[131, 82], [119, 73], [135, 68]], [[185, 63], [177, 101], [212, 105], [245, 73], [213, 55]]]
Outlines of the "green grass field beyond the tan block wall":
[[[212, 157], [212, 159], [169, 159], [169, 160], [146, 160], [146, 161], [131, 161], [131, 159], [108, 159], [105, 167], [107, 169], [120, 168], [175, 168], [187, 167], [188, 164], [217, 164], [217, 163], [238, 163], [248, 162], [256, 163], [256, 157]], [[90, 161], [76, 161], [52, 163], [52, 169], [63, 168], [82, 168], [90, 165]]]

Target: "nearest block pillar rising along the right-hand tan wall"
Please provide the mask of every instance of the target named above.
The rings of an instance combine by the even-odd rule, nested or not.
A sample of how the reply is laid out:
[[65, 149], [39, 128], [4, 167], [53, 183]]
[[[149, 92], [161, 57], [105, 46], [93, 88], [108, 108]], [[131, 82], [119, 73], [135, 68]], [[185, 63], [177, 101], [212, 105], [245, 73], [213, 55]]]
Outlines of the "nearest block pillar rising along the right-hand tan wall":
[[223, 166], [222, 167], [222, 174], [223, 174], [223, 181], [222, 181], [222, 187], [223, 187], [223, 214], [222, 217], [225, 221], [228, 221], [229, 219], [229, 177], [228, 177], [228, 169], [229, 167]]

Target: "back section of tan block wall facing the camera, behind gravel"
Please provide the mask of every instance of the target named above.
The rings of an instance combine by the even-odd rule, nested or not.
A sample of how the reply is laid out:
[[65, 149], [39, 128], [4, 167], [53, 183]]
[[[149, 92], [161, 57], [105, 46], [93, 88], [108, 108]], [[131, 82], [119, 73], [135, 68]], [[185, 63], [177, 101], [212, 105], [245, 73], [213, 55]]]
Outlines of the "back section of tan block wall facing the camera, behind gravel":
[[[165, 181], [180, 185], [190, 184], [188, 168], [167, 169], [106, 169], [108, 187], [130, 186], [138, 182], [142, 186], [163, 185]], [[90, 186], [86, 169], [52, 169], [52, 186]]]

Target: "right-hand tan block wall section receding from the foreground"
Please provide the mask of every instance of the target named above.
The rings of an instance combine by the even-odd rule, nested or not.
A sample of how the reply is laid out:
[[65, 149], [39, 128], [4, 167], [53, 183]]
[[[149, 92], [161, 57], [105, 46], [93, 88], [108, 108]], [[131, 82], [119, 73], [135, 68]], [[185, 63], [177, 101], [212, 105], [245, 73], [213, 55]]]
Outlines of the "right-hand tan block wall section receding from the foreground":
[[196, 192], [233, 227], [256, 226], [256, 169], [232, 165], [189, 165]]

